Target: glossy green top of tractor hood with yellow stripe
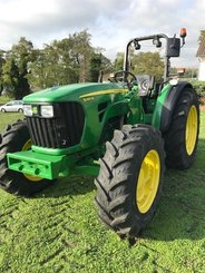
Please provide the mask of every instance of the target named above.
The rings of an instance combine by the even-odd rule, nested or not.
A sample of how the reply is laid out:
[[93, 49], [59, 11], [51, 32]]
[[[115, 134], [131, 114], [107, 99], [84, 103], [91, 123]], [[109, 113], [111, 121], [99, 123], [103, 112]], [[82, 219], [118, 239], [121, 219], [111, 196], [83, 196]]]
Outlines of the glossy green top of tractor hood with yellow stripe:
[[125, 94], [128, 89], [121, 84], [72, 84], [60, 87], [51, 87], [42, 91], [33, 92], [23, 98], [25, 104], [32, 103], [59, 103], [87, 100], [90, 97], [107, 94]]

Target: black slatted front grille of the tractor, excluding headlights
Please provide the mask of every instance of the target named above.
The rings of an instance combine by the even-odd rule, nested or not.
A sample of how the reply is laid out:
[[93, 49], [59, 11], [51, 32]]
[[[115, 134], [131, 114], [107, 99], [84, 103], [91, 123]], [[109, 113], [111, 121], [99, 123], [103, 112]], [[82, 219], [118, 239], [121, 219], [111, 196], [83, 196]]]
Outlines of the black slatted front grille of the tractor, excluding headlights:
[[55, 117], [27, 117], [33, 145], [47, 148], [67, 148], [80, 143], [85, 113], [78, 103], [53, 104]]

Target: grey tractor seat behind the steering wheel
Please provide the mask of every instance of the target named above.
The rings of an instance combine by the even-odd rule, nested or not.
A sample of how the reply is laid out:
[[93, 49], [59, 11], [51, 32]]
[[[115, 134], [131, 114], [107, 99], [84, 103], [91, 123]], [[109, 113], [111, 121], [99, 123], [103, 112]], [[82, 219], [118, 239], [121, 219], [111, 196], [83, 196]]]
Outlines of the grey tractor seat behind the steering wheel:
[[155, 77], [150, 75], [137, 75], [138, 95], [145, 97], [150, 94], [155, 86]]

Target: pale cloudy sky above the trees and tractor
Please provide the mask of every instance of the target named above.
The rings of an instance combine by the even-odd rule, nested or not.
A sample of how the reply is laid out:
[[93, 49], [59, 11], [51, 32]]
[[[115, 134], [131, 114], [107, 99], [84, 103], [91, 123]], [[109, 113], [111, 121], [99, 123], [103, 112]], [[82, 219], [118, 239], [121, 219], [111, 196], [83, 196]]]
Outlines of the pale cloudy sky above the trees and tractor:
[[203, 0], [0, 0], [0, 49], [4, 50], [20, 37], [42, 48], [87, 29], [91, 45], [102, 47], [104, 55], [114, 59], [130, 38], [156, 33], [173, 37], [180, 28], [187, 29], [186, 45], [172, 64], [197, 67], [198, 36], [205, 30]]

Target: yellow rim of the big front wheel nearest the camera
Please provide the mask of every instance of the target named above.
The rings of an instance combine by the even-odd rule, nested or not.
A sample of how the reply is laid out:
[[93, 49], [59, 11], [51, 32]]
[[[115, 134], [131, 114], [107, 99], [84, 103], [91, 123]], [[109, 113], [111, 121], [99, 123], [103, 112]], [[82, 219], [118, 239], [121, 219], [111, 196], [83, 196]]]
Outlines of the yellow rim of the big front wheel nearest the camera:
[[145, 156], [136, 187], [136, 202], [140, 213], [147, 213], [156, 197], [160, 176], [160, 159], [155, 149]]

